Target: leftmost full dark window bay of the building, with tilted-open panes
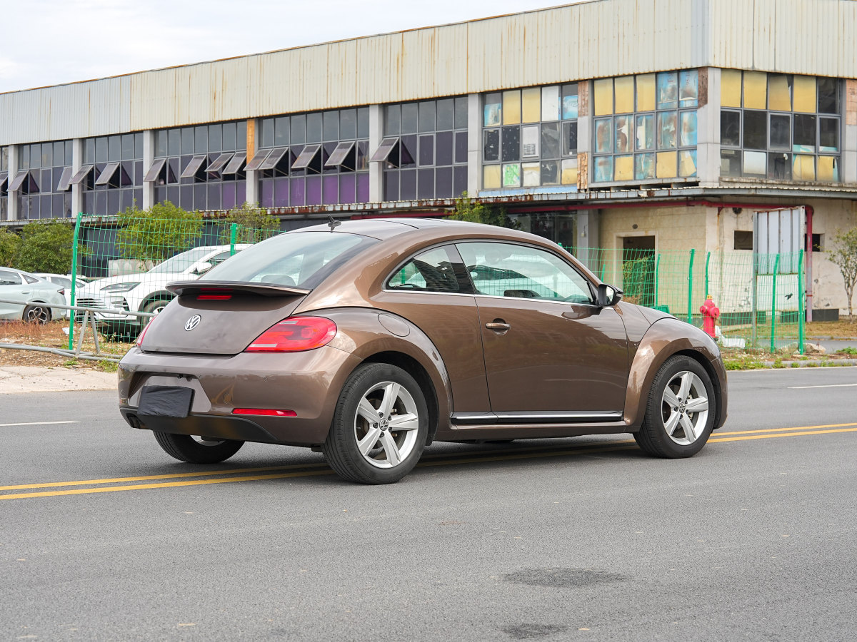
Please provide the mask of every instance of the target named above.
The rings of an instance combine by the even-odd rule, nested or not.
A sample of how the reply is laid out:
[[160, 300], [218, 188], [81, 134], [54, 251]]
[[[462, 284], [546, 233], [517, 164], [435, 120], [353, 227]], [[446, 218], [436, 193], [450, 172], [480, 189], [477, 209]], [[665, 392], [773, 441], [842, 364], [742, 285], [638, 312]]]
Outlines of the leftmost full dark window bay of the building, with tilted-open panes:
[[[7, 174], [3, 186], [17, 193], [18, 217], [71, 217], [71, 141], [22, 145], [18, 158], [17, 173]], [[3, 173], [7, 167], [4, 158]]]

